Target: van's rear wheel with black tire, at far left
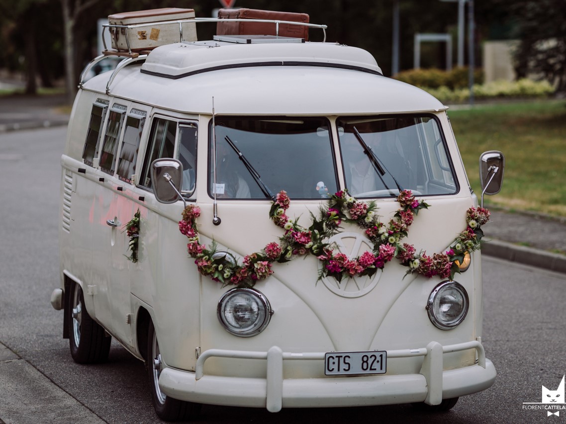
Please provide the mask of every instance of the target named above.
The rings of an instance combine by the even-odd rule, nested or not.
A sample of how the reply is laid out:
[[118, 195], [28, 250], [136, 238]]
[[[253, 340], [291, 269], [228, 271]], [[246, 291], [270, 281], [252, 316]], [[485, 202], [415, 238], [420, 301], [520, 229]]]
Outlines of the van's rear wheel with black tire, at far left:
[[71, 284], [70, 290], [67, 322], [71, 356], [78, 364], [106, 362], [112, 338], [88, 314], [80, 285]]

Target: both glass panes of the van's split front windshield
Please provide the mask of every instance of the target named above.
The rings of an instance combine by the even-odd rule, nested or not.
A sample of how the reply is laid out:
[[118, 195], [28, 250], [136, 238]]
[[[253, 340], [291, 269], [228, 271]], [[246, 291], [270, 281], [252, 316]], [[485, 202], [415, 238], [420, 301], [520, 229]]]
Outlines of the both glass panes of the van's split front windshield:
[[[291, 198], [327, 198], [338, 191], [338, 170], [356, 197], [457, 192], [432, 116], [338, 118], [336, 144], [327, 118], [217, 116], [215, 123], [216, 183], [211, 128], [209, 194], [219, 199], [265, 199], [281, 190]], [[338, 167], [333, 146], [340, 149]]]

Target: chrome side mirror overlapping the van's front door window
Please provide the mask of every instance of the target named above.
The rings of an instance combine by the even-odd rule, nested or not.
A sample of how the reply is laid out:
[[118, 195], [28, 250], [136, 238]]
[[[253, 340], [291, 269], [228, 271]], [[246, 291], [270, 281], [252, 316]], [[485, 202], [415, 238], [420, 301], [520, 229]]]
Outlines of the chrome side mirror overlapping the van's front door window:
[[157, 201], [175, 203], [183, 199], [177, 187], [181, 187], [183, 165], [177, 159], [155, 159], [151, 164], [151, 181]]

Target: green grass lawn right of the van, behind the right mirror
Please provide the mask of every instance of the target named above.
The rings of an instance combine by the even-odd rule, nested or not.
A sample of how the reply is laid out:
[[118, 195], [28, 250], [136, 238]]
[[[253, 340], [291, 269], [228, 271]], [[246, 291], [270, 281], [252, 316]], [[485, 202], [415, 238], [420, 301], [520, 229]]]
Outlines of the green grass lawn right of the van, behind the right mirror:
[[477, 105], [448, 116], [478, 198], [479, 155], [505, 155], [503, 188], [486, 205], [566, 217], [566, 101]]

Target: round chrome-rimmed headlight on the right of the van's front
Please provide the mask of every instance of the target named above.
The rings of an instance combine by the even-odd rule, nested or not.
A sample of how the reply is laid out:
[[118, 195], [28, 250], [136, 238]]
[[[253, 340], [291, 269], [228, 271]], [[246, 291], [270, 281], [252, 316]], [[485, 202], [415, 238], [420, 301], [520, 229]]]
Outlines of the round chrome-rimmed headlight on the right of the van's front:
[[436, 327], [450, 330], [464, 321], [468, 306], [466, 289], [456, 282], [445, 281], [430, 293], [426, 309], [428, 318]]

